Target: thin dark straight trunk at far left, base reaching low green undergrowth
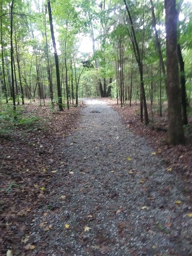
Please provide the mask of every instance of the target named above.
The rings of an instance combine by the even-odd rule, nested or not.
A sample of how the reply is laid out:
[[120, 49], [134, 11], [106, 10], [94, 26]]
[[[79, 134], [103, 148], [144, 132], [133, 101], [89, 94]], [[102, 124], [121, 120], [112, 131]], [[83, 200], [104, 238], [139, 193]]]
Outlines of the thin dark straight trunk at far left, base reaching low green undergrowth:
[[12, 0], [12, 4], [10, 8], [10, 12], [11, 12], [10, 13], [10, 19], [11, 19], [10, 44], [11, 44], [11, 75], [12, 75], [13, 110], [15, 112], [16, 106], [15, 106], [15, 88], [14, 88], [14, 70], [13, 70], [13, 3], [14, 3], [14, 0]]

